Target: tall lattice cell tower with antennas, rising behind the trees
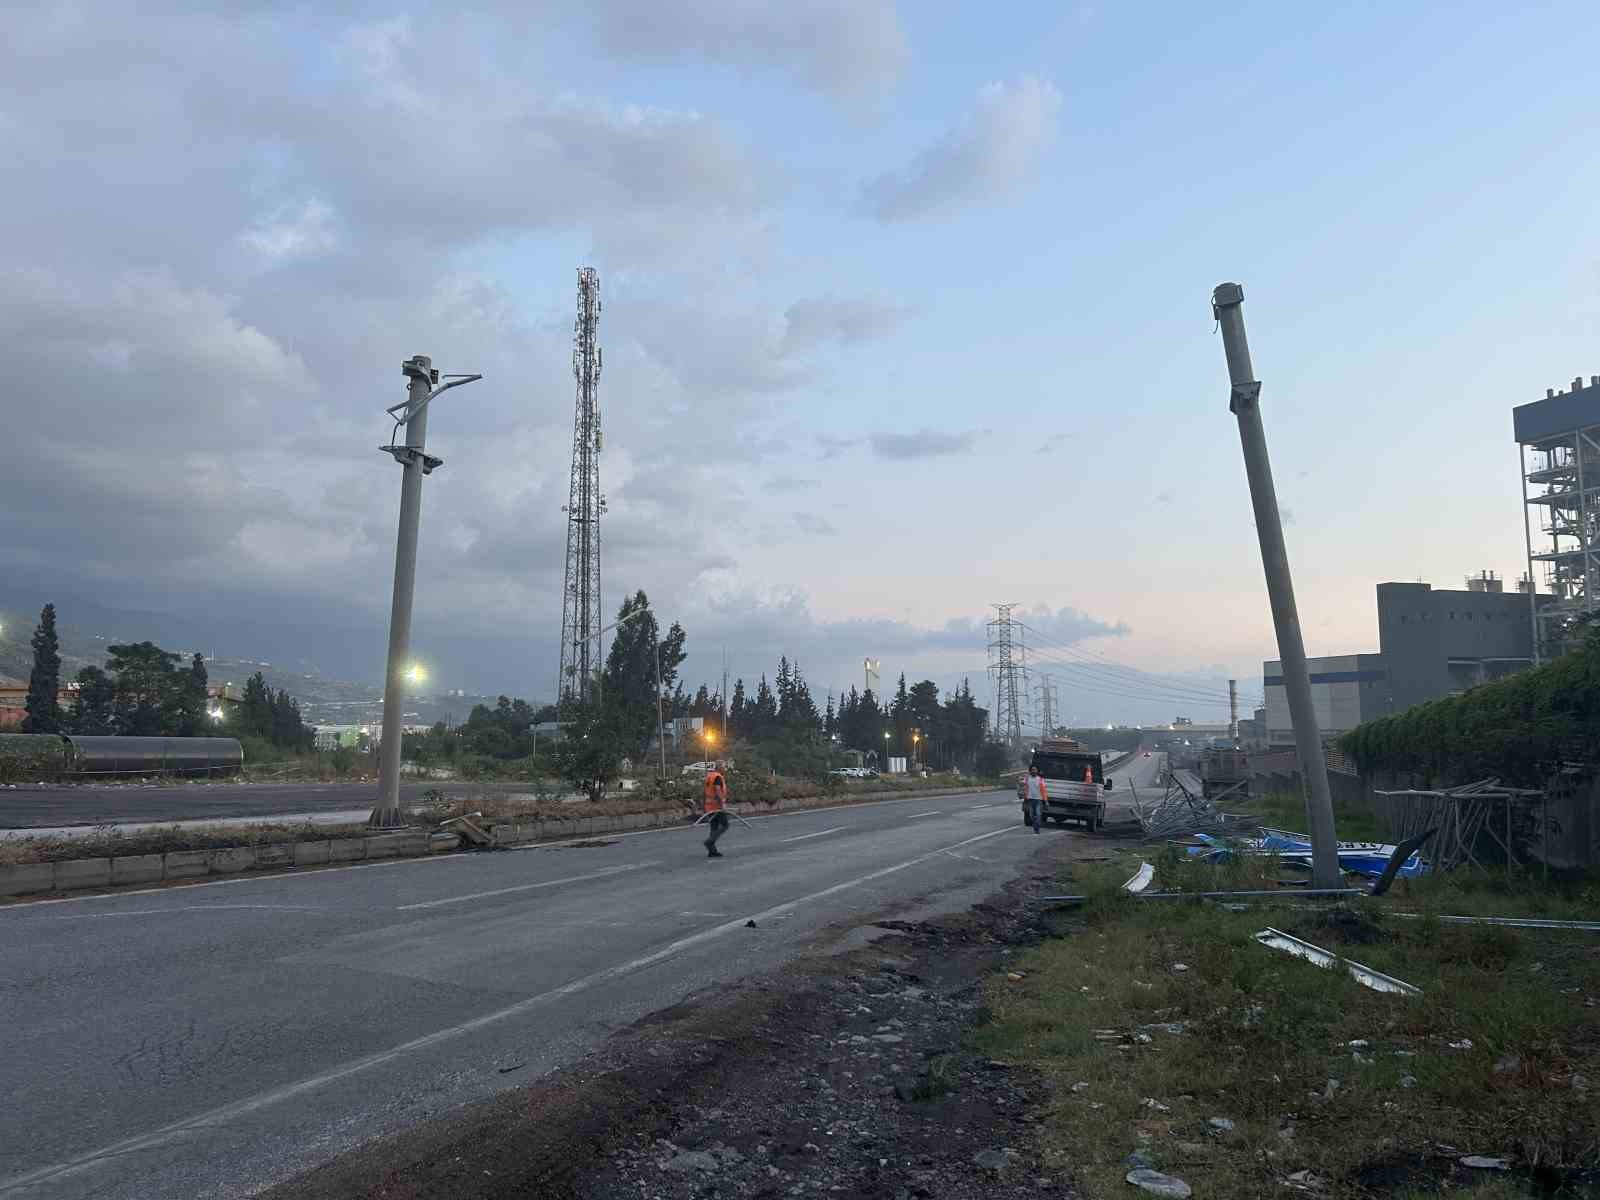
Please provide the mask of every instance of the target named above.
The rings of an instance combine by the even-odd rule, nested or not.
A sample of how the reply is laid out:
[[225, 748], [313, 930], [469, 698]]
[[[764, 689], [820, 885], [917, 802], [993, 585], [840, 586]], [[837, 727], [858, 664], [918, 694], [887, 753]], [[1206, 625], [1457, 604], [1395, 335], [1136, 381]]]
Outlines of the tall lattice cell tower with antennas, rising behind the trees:
[[600, 275], [578, 269], [578, 322], [573, 325], [573, 482], [566, 514], [566, 589], [562, 594], [562, 699], [587, 701], [600, 669]]

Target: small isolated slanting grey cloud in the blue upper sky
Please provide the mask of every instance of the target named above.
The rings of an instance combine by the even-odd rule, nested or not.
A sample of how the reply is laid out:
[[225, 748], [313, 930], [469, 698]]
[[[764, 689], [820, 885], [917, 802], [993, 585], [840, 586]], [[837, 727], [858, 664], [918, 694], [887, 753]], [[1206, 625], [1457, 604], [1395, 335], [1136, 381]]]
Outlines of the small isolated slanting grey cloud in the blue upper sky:
[[979, 90], [973, 109], [906, 166], [862, 186], [878, 221], [910, 221], [1003, 194], [1032, 171], [1056, 133], [1061, 91], [1024, 75]]

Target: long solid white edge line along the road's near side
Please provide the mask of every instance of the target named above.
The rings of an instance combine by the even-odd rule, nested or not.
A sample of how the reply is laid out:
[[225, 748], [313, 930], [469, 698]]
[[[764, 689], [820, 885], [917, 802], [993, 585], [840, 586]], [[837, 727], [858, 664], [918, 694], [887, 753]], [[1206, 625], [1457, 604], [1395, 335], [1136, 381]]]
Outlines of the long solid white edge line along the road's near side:
[[667, 942], [659, 950], [653, 950], [632, 962], [619, 963], [616, 966], [606, 966], [603, 971], [595, 971], [594, 974], [581, 976], [573, 979], [570, 984], [562, 984], [560, 987], [552, 987], [549, 992], [539, 992], [538, 995], [530, 995], [526, 1000], [518, 1000], [514, 1005], [496, 1010], [493, 1013], [485, 1013], [483, 1016], [464, 1021], [459, 1026], [451, 1026], [450, 1029], [438, 1029], [432, 1034], [424, 1034], [411, 1042], [403, 1042], [390, 1050], [381, 1050], [376, 1054], [366, 1054], [365, 1058], [350, 1059], [349, 1062], [334, 1067], [333, 1070], [325, 1070], [320, 1075], [310, 1075], [296, 1083], [286, 1083], [282, 1088], [272, 1088], [270, 1091], [262, 1091], [254, 1096], [246, 1096], [242, 1101], [234, 1101], [232, 1104], [224, 1104], [219, 1109], [211, 1109], [210, 1112], [202, 1112], [195, 1117], [186, 1117], [181, 1122], [173, 1122], [171, 1125], [162, 1126], [152, 1133], [142, 1133], [134, 1138], [125, 1138], [120, 1142], [112, 1142], [98, 1150], [78, 1155], [77, 1158], [67, 1158], [61, 1163], [53, 1163], [50, 1166], [40, 1166], [26, 1174], [14, 1174], [10, 1179], [0, 1179], [0, 1195], [8, 1192], [21, 1192], [27, 1187], [35, 1187], [38, 1184], [53, 1182], [56, 1179], [64, 1179], [72, 1174], [78, 1174], [96, 1163], [102, 1163], [110, 1158], [126, 1158], [131, 1154], [141, 1154], [144, 1150], [154, 1150], [168, 1142], [178, 1141], [192, 1134], [198, 1130], [226, 1128], [227, 1125], [237, 1122], [242, 1117], [248, 1117], [261, 1109], [272, 1107], [274, 1104], [282, 1104], [283, 1101], [294, 1099], [296, 1096], [304, 1096], [309, 1091], [323, 1088], [330, 1083], [338, 1083], [350, 1075], [358, 1075], [363, 1070], [371, 1070], [373, 1067], [381, 1067], [386, 1062], [392, 1062], [405, 1054], [413, 1054], [419, 1050], [429, 1050], [442, 1042], [461, 1037], [462, 1034], [472, 1034], [486, 1026], [498, 1024], [509, 1018], [522, 1016], [530, 1013], [539, 1005], [549, 1003], [550, 1000], [562, 1000], [568, 995], [584, 992], [597, 984], [608, 984], [613, 979], [621, 979], [626, 974], [643, 970], [646, 966], [654, 966], [659, 962], [672, 958], [683, 950], [709, 942], [714, 938], [720, 938], [725, 933], [733, 933], [734, 930], [742, 930], [747, 920], [757, 923], [770, 922], [776, 917], [787, 915], [798, 909], [802, 904], [810, 904], [813, 901], [826, 899], [835, 896], [840, 891], [848, 891], [850, 888], [859, 888], [862, 883], [870, 883], [872, 880], [883, 878], [885, 875], [893, 875], [896, 872], [906, 870], [907, 867], [915, 867], [930, 859], [939, 858], [952, 850], [960, 850], [962, 846], [970, 846], [973, 842], [982, 842], [990, 837], [1000, 837], [1002, 834], [1014, 834], [1018, 827], [1006, 826], [1005, 829], [994, 829], [987, 834], [979, 834], [978, 837], [970, 837], [965, 842], [957, 842], [950, 846], [941, 846], [926, 854], [918, 854], [917, 858], [906, 859], [904, 862], [896, 862], [893, 867], [880, 867], [878, 870], [869, 872], [866, 875], [858, 875], [853, 880], [845, 880], [843, 883], [835, 883], [830, 888], [822, 888], [821, 891], [813, 891], [808, 896], [800, 896], [798, 899], [786, 901], [784, 904], [776, 904], [763, 912], [750, 914], [749, 917], [734, 917], [722, 925], [712, 925], [710, 928], [701, 930], [699, 933], [691, 933], [688, 938], [678, 938], [677, 941]]

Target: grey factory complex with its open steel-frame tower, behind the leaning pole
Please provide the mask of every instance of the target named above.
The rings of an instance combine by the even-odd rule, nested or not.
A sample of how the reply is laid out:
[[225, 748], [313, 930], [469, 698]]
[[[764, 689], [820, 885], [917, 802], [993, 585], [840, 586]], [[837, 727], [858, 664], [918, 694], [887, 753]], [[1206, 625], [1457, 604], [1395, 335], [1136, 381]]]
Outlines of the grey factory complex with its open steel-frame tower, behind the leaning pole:
[[[1454, 696], [1573, 650], [1600, 611], [1600, 376], [1512, 410], [1522, 466], [1526, 573], [1462, 589], [1378, 584], [1378, 651], [1307, 659], [1325, 739], [1414, 704]], [[1264, 741], [1294, 744], [1283, 664], [1261, 664]]]

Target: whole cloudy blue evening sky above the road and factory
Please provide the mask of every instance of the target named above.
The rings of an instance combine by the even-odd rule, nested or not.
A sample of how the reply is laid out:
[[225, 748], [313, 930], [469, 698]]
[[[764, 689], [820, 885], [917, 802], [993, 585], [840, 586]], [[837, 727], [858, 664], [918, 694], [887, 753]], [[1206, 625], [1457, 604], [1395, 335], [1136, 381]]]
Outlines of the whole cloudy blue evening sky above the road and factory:
[[1278, 651], [1211, 288], [1310, 654], [1381, 581], [1514, 579], [1510, 408], [1600, 371], [1597, 51], [1560, 2], [8, 10], [0, 570], [379, 682], [429, 354], [483, 381], [416, 658], [547, 698], [594, 266], [606, 610], [690, 686], [987, 698], [1014, 603], [1064, 717], [1216, 717]]

